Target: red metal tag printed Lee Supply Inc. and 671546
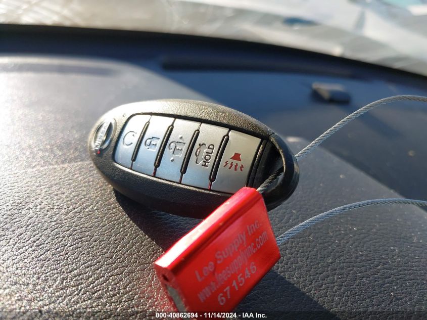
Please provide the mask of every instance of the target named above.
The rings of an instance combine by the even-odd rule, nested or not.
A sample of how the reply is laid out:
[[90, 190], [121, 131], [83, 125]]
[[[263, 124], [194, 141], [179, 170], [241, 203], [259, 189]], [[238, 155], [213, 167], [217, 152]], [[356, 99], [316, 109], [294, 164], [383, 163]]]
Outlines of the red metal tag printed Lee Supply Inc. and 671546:
[[178, 311], [231, 311], [279, 259], [267, 209], [242, 188], [155, 262]]

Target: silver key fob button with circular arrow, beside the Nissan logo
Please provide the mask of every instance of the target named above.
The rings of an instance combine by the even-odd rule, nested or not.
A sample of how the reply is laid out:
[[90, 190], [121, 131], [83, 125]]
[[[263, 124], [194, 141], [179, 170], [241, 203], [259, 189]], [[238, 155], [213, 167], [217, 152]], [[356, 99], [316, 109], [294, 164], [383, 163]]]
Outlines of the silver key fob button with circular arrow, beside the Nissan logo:
[[117, 142], [114, 161], [130, 169], [132, 166], [132, 154], [138, 142], [139, 135], [149, 120], [149, 115], [136, 115], [127, 121]]

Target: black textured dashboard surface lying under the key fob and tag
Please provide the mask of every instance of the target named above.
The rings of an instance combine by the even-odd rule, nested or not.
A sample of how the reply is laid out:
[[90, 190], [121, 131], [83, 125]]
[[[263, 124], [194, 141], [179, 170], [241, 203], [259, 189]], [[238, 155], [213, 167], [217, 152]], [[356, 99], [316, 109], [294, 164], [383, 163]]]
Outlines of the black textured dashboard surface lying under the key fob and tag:
[[[162, 98], [215, 101], [305, 138], [288, 139], [298, 151], [366, 103], [426, 95], [420, 76], [268, 45], [49, 30], [1, 34], [0, 305], [15, 311], [9, 315], [171, 310], [152, 263], [197, 220], [150, 212], [102, 180], [86, 140], [107, 110]], [[313, 82], [344, 85], [351, 103], [319, 101]], [[374, 110], [324, 144], [334, 155], [307, 156], [295, 195], [270, 212], [274, 231], [346, 203], [399, 196], [392, 190], [426, 199], [426, 110], [417, 103]], [[238, 310], [422, 318], [426, 231], [425, 211], [408, 206], [326, 221], [281, 247], [279, 263]]]

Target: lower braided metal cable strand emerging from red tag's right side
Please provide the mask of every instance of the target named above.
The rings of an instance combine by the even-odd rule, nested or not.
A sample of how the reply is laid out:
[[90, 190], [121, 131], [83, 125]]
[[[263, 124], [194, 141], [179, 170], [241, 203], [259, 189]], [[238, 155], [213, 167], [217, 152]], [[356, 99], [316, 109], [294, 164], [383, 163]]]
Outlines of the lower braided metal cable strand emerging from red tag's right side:
[[284, 241], [294, 237], [295, 235], [299, 234], [300, 232], [306, 230], [308, 227], [312, 226], [313, 224], [316, 224], [320, 221], [323, 221], [324, 219], [336, 216], [341, 213], [348, 212], [350, 210], [358, 209], [358, 208], [364, 208], [369, 207], [373, 205], [385, 205], [385, 204], [412, 204], [416, 206], [424, 206], [427, 207], [427, 201], [423, 200], [412, 200], [412, 199], [399, 199], [399, 198], [390, 198], [390, 199], [372, 199], [372, 200], [365, 200], [361, 202], [355, 202], [351, 204], [347, 204], [345, 206], [341, 206], [323, 213], [320, 213], [308, 220], [305, 220], [304, 222], [294, 226], [292, 229], [288, 230], [287, 232], [281, 234], [276, 238], [277, 245], [281, 245]]

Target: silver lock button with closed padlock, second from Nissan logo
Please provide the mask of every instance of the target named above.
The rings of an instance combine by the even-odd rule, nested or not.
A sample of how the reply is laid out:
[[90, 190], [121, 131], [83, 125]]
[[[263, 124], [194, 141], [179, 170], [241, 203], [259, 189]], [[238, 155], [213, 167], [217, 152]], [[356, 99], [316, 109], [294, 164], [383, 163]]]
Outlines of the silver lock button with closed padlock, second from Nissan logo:
[[154, 162], [173, 118], [152, 116], [143, 141], [132, 164], [132, 170], [153, 175]]

